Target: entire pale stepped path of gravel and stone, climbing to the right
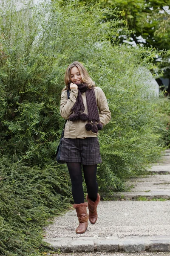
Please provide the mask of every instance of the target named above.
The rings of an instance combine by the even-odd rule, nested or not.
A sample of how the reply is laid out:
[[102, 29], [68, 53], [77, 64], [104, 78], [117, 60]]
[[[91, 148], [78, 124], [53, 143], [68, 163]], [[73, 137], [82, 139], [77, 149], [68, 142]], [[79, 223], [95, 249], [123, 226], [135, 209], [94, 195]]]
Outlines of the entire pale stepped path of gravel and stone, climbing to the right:
[[127, 181], [131, 192], [101, 201], [96, 224], [84, 234], [75, 234], [77, 215], [70, 210], [45, 228], [45, 241], [65, 253], [170, 252], [170, 150], [149, 171]]

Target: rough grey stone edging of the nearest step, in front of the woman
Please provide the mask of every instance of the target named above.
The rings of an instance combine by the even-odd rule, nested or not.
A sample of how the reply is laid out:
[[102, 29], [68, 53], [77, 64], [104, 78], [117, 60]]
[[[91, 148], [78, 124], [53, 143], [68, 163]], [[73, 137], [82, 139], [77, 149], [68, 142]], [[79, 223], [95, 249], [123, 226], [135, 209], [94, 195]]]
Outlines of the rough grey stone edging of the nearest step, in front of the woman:
[[57, 238], [45, 239], [45, 241], [50, 242], [54, 250], [60, 249], [61, 252], [65, 253], [170, 252], [170, 236], [80, 237], [66, 239], [68, 238], [59, 238], [58, 240]]

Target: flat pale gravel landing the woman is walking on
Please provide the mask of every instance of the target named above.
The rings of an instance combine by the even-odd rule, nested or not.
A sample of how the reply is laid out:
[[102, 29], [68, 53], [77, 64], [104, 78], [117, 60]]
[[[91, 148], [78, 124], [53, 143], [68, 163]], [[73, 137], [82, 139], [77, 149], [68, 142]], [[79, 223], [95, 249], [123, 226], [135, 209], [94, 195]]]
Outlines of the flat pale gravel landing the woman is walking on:
[[102, 201], [98, 215], [95, 225], [76, 235], [77, 215], [70, 210], [45, 228], [46, 238], [170, 235], [170, 201]]

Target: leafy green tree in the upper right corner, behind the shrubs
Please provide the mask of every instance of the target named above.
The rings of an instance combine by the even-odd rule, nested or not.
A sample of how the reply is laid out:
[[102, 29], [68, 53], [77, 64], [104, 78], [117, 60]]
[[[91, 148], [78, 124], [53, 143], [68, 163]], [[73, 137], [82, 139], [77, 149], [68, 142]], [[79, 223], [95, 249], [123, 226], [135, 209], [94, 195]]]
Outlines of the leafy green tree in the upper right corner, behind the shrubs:
[[[86, 0], [86, 3], [89, 1]], [[99, 1], [91, 1], [95, 4]], [[120, 41], [158, 50], [170, 50], [170, 2], [169, 0], [104, 0], [101, 8], [109, 6], [122, 11], [119, 18], [127, 22], [129, 35], [120, 35]], [[108, 15], [114, 19], [114, 15]], [[124, 25], [122, 25], [124, 26]], [[133, 41], [133, 43], [132, 43]], [[115, 43], [115, 42], [114, 42]], [[155, 58], [158, 69], [164, 71], [164, 78], [170, 79], [170, 51]], [[160, 82], [160, 79], [157, 80]], [[170, 80], [169, 80], [170, 81]], [[161, 85], [161, 83], [159, 83]], [[170, 83], [167, 88], [170, 94]]]

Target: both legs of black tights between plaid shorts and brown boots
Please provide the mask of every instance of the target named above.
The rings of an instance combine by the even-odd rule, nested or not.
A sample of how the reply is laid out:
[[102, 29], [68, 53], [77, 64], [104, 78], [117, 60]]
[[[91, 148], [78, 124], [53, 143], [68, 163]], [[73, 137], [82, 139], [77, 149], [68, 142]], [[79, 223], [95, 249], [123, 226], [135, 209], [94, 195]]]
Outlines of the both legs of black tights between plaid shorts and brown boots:
[[[82, 188], [82, 169], [81, 163], [67, 163], [71, 178], [72, 194], [75, 204], [84, 203], [84, 192]], [[96, 181], [97, 164], [83, 165], [85, 184], [88, 196], [92, 201], [96, 201], [98, 184]]]

